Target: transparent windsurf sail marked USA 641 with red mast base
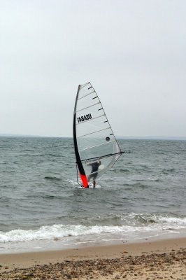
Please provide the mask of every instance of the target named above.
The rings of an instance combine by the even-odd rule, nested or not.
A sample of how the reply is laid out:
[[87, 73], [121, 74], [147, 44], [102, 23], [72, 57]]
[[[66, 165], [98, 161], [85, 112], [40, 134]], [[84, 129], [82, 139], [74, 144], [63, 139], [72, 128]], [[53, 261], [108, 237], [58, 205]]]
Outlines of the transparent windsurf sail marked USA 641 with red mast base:
[[91, 83], [78, 86], [73, 113], [73, 144], [84, 188], [112, 167], [123, 153]]

